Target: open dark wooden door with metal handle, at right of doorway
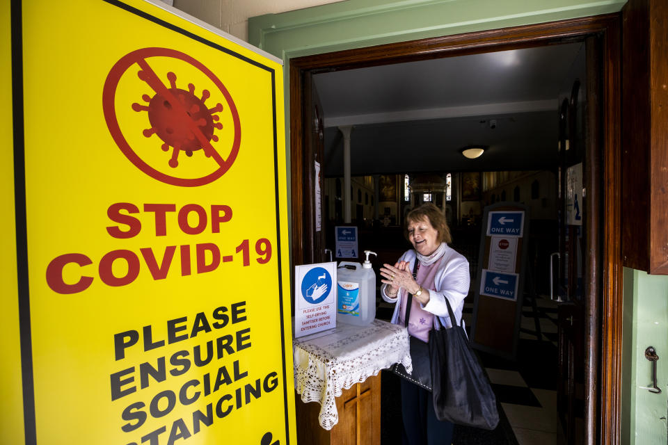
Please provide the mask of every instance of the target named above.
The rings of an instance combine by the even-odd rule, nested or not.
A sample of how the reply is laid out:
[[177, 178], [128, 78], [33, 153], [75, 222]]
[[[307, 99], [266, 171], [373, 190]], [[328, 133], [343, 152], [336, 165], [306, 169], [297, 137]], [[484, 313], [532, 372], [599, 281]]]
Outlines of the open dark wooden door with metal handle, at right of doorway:
[[559, 97], [559, 249], [550, 259], [550, 298], [557, 302], [557, 412], [568, 444], [596, 443], [605, 193], [603, 48], [597, 36], [584, 40], [582, 63], [574, 64], [572, 83]]

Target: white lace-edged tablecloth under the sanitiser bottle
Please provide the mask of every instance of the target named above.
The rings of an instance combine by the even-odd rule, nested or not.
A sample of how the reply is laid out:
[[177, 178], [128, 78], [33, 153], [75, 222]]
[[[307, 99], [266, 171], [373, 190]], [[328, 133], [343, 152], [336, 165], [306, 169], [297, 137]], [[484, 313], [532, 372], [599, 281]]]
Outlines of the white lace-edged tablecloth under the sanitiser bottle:
[[367, 326], [337, 323], [334, 330], [294, 339], [294, 387], [303, 402], [319, 402], [320, 426], [339, 421], [335, 397], [381, 369], [401, 363], [412, 371], [406, 327], [374, 320]]

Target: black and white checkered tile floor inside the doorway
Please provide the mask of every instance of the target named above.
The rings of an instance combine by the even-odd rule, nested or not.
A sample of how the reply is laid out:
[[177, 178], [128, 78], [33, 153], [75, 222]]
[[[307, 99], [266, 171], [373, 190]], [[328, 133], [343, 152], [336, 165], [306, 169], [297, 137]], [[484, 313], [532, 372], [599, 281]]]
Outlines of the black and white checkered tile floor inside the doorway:
[[[523, 307], [516, 362], [479, 354], [519, 445], [559, 444], [562, 434], [557, 417], [557, 308], [553, 302], [536, 299], [541, 341], [535, 334], [534, 311]], [[463, 318], [471, 325], [472, 302]], [[532, 332], [523, 332], [532, 331]], [[509, 438], [511, 439], [511, 438]]]

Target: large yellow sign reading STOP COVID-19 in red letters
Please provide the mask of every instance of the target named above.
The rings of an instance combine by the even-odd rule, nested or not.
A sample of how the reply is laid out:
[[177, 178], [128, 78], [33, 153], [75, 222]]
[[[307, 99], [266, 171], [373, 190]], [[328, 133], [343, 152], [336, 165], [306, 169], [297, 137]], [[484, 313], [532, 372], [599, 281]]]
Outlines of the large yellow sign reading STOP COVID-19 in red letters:
[[26, 442], [294, 443], [280, 61], [159, 2], [12, 26]]

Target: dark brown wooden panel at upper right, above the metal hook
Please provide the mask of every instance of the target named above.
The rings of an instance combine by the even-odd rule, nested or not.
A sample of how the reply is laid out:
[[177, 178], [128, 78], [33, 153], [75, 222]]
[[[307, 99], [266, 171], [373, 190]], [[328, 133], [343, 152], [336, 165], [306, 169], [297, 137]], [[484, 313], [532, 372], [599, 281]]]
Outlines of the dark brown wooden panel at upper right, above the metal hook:
[[623, 265], [667, 275], [668, 2], [626, 3], [622, 39]]

